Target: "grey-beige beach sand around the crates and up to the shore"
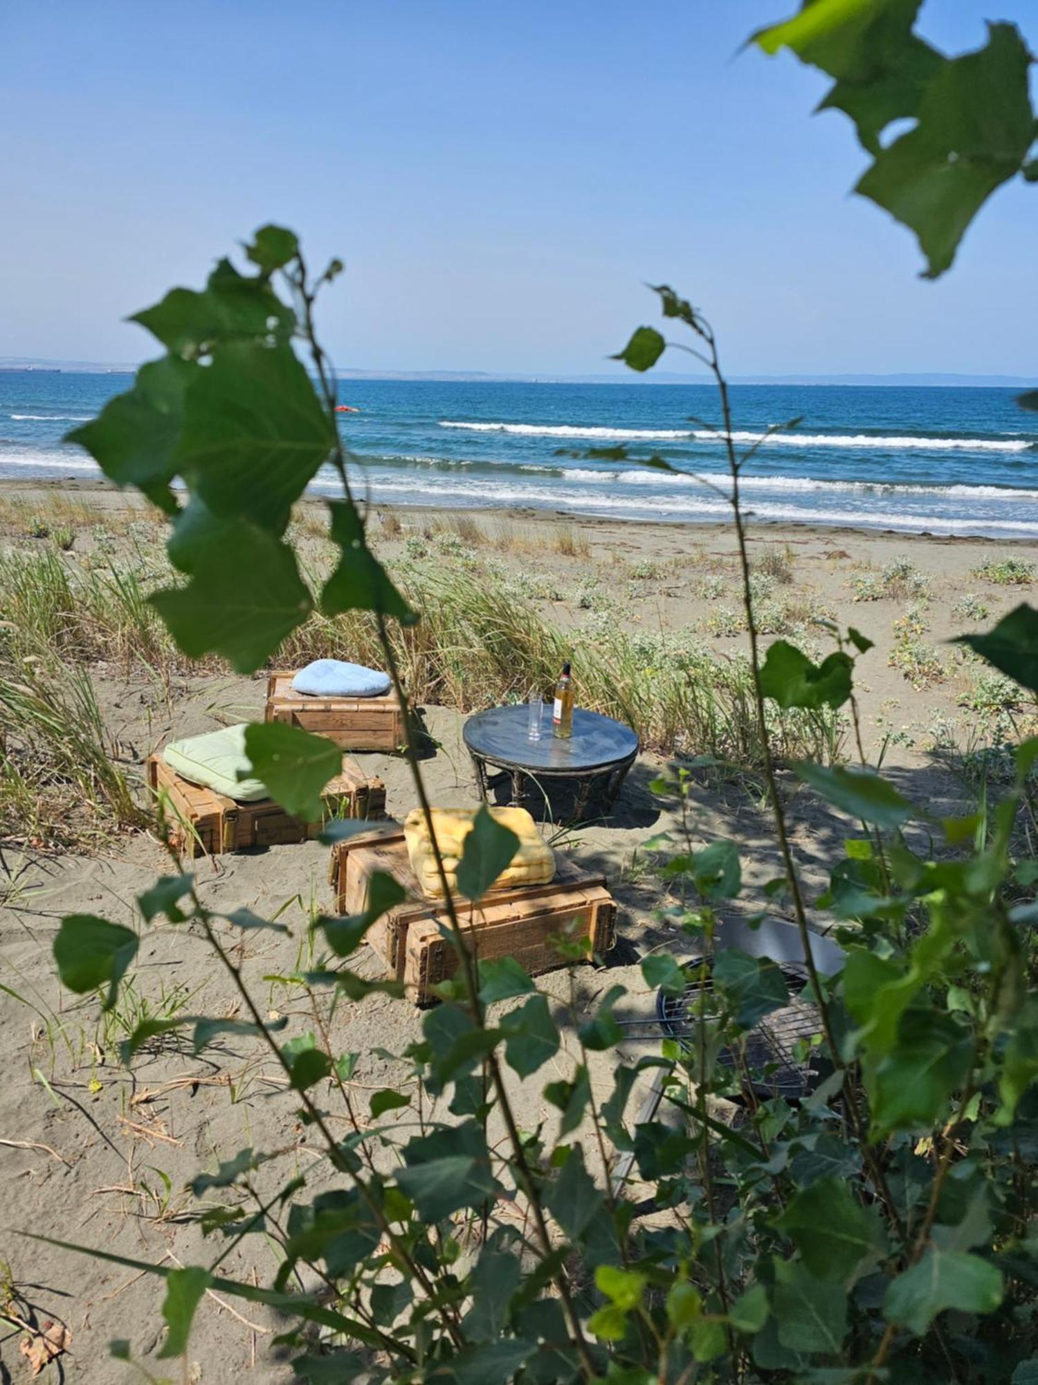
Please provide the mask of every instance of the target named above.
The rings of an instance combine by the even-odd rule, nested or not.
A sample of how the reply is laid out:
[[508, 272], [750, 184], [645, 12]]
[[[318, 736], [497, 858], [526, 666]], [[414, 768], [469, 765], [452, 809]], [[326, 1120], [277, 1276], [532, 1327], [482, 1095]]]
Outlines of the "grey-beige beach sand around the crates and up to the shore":
[[[131, 507], [126, 496], [100, 486], [6, 485], [0, 488], [0, 508], [7, 507], [0, 548], [30, 548], [42, 542], [19, 533], [10, 522], [10, 501], [28, 510], [43, 508], [55, 493], [87, 507], [89, 519], [100, 511], [102, 525]], [[392, 568], [408, 537], [433, 535], [451, 518], [430, 510], [399, 510], [400, 532], [390, 532], [396, 524], [375, 515], [378, 551]], [[483, 535], [482, 547], [508, 569], [537, 579], [543, 594], [531, 600], [562, 627], [590, 619], [598, 605], [605, 619], [631, 630], [693, 627], [721, 655], [745, 645], [745, 633], [727, 633], [738, 625], [739, 608], [734, 536], [727, 526], [576, 521], [522, 511], [473, 512], [471, 519]], [[84, 521], [69, 561], [87, 554], [93, 542]], [[158, 529], [155, 543], [161, 543]], [[576, 551], [562, 551], [566, 548]], [[763, 600], [796, 611], [799, 622], [814, 632], [811, 638], [819, 650], [829, 648], [830, 640], [823, 629], [807, 625], [814, 616], [832, 619], [841, 629], [853, 625], [875, 641], [858, 672], [869, 758], [875, 759], [884, 745], [890, 777], [915, 802], [937, 816], [963, 812], [969, 795], [949, 769], [943, 747], [952, 740], [966, 745], [978, 730], [978, 713], [960, 705], [963, 698], [974, 697], [977, 666], [962, 662], [947, 641], [965, 630], [990, 627], [1031, 591], [1027, 584], [1001, 586], [973, 569], [1006, 555], [1035, 561], [1038, 550], [984, 539], [799, 526], [753, 529], [752, 548], [765, 575], [772, 573]], [[877, 600], [855, 600], [855, 590], [886, 590], [883, 569], [902, 560], [912, 565], [908, 587], [918, 586], [918, 593], [908, 590], [905, 580], [893, 587], [887, 582], [890, 590]], [[444, 554], [443, 561], [450, 557]], [[987, 608], [983, 619], [955, 614], [966, 597], [973, 598], [972, 609]], [[897, 666], [898, 650], [908, 637], [898, 638], [895, 622], [907, 614], [916, 620], [911, 637], [934, 651], [931, 665], [925, 659], [920, 663], [919, 656], [908, 661], [918, 686]], [[765, 636], [764, 644], [774, 637]], [[167, 690], [116, 662], [94, 665], [91, 676], [119, 759], [134, 776], [145, 756], [173, 735], [262, 716], [262, 674], [177, 674]], [[580, 702], [580, 668], [574, 677]], [[472, 803], [475, 784], [461, 742], [464, 716], [429, 706], [426, 723], [439, 742], [436, 755], [424, 765], [432, 799]], [[400, 759], [356, 758], [385, 780], [394, 816], [414, 806], [414, 788]], [[652, 949], [674, 947], [680, 956], [691, 949], [686, 939], [653, 917], [653, 910], [667, 902], [667, 891], [657, 863], [642, 850], [650, 835], [677, 827], [673, 805], [660, 802], [648, 788], [662, 763], [652, 753], [639, 759], [614, 819], [566, 830], [556, 838], [559, 849], [572, 852], [581, 866], [606, 874], [620, 906], [620, 940], [606, 965], [576, 972], [577, 1018], [591, 1012], [601, 994], [617, 982], [631, 992], [621, 1012], [648, 1014], [650, 997], [638, 970], [639, 957]], [[822, 807], [805, 789], [797, 791], [792, 776], [783, 778], [783, 785], [790, 795], [793, 850], [808, 896], [815, 897], [828, 882], [826, 863], [839, 855], [844, 837], [855, 834], [855, 824]], [[778, 873], [760, 783], [739, 776], [704, 781], [695, 789], [693, 803], [696, 843], [718, 837], [739, 843], [746, 891], [732, 913], [752, 914], [761, 904], [760, 886]], [[293, 1168], [306, 1173], [311, 1192], [334, 1181], [311, 1133], [295, 1116], [280, 1071], [256, 1044], [228, 1039], [197, 1058], [187, 1046], [170, 1043], [141, 1057], [130, 1073], [119, 1065], [116, 1053], [125, 1035], [113, 1024], [98, 1022], [93, 999], [80, 1001], [58, 986], [51, 940], [61, 917], [94, 913], [126, 924], [138, 921], [134, 896], [169, 871], [152, 838], [129, 834], [94, 855], [76, 856], [37, 853], [25, 843], [8, 842], [3, 855], [17, 885], [12, 888], [0, 874], [0, 899], [7, 900], [0, 909], [0, 983], [25, 1000], [0, 994], [0, 1042], [8, 1073], [0, 1090], [0, 1177], [7, 1188], [8, 1227], [155, 1263], [208, 1263], [220, 1245], [202, 1240], [194, 1216], [197, 1204], [184, 1192], [185, 1181], [198, 1172], [215, 1169], [217, 1159], [228, 1159], [244, 1147], [295, 1144], [296, 1152], [280, 1162], [277, 1173], [267, 1166], [257, 1174], [257, 1187], [275, 1187], [275, 1180]], [[311, 911], [331, 903], [327, 866], [327, 849], [316, 842], [197, 864], [199, 891], [210, 909], [246, 906], [267, 915], [281, 911], [281, 922], [292, 929], [289, 938], [235, 935], [230, 928], [226, 932], [263, 1006], [288, 1017], [286, 1036], [313, 1028], [313, 1021], [300, 988], [270, 978], [306, 967]], [[819, 928], [830, 922], [822, 914], [814, 921]], [[365, 954], [363, 968], [371, 975], [379, 970], [371, 954]], [[183, 1007], [190, 1012], [241, 1014], [239, 999], [205, 943], [170, 924], [143, 931], [134, 985], [140, 996], [151, 997], [163, 988], [166, 993], [180, 988]], [[569, 1010], [567, 975], [555, 972], [541, 985], [552, 997], [563, 1042], [572, 1051], [574, 1014]], [[336, 1053], [361, 1055], [353, 1078], [361, 1111], [367, 1112], [374, 1090], [406, 1079], [406, 1064], [378, 1050], [401, 1051], [419, 1036], [421, 1018], [411, 1003], [382, 996], [339, 1007], [332, 1043]], [[595, 1055], [592, 1082], [599, 1097], [612, 1089], [612, 1055]], [[544, 1082], [567, 1073], [569, 1061], [561, 1054], [519, 1089], [518, 1115], [525, 1127], [531, 1129], [545, 1116], [554, 1120], [540, 1091]], [[393, 1112], [386, 1119], [396, 1116]], [[408, 1111], [399, 1116], [411, 1119]], [[126, 1368], [107, 1357], [112, 1338], [129, 1338], [134, 1356], [162, 1374], [163, 1363], [154, 1361], [162, 1342], [156, 1281], [12, 1233], [4, 1234], [0, 1253], [17, 1281], [42, 1287], [36, 1294], [42, 1316], [60, 1316], [72, 1328], [73, 1356], [66, 1360], [71, 1381], [126, 1378]], [[252, 1237], [221, 1269], [231, 1277], [255, 1273], [259, 1283], [270, 1283], [275, 1265], [263, 1240]], [[271, 1334], [282, 1325], [252, 1305], [233, 1306], [234, 1313], [208, 1298], [199, 1307], [188, 1355], [192, 1374], [187, 1378], [223, 1382], [245, 1373], [256, 1381], [288, 1379], [284, 1357], [270, 1346]]]

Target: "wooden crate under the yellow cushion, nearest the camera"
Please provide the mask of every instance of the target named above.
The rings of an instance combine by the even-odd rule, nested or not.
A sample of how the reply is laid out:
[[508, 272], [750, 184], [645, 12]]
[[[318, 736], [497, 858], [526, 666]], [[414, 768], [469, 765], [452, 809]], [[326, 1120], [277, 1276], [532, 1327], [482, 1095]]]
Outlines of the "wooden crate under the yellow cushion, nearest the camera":
[[[364, 910], [368, 881], [376, 871], [418, 895], [403, 828], [396, 823], [332, 848], [331, 882], [340, 914]], [[616, 938], [616, 904], [603, 877], [581, 871], [565, 857], [547, 885], [493, 891], [475, 906], [458, 899], [457, 909], [477, 957], [515, 957], [533, 976], [566, 965], [555, 938], [590, 938], [591, 953], [599, 957]], [[388, 974], [403, 981], [418, 1004], [433, 1001], [433, 988], [457, 970], [457, 954], [441, 927], [447, 927], [447, 910], [440, 902], [408, 899], [383, 914], [367, 935]]]

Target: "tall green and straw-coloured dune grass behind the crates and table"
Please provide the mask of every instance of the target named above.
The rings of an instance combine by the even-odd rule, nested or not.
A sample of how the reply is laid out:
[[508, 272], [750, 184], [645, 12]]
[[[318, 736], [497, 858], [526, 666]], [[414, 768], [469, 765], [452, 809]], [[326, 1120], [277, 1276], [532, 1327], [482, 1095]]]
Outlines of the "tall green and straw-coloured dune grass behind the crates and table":
[[[148, 604], [148, 593], [173, 579], [156, 542], [161, 529], [131, 515], [113, 532], [105, 515], [104, 529], [83, 532], [82, 514], [57, 500], [44, 522], [50, 528], [60, 511], [73, 528], [76, 542], [66, 551], [50, 539], [29, 542], [25, 515], [15, 515], [22, 525], [17, 542], [0, 551], [0, 720], [7, 740], [0, 841], [73, 846], [141, 820], [113, 759], [91, 673], [140, 672], [167, 690], [179, 674], [216, 673], [221, 665], [185, 659]], [[0, 521], [10, 519], [8, 501]], [[399, 536], [390, 525], [388, 542]], [[544, 535], [498, 533], [462, 515], [437, 526], [428, 543], [414, 544], [415, 557], [392, 564], [422, 612], [417, 626], [393, 632], [417, 702], [469, 712], [525, 699], [534, 688], [549, 694], [570, 659], [580, 704], [627, 722], [646, 748], [709, 756], [738, 771], [760, 767], [750, 668], [742, 654], [717, 654], [685, 630], [632, 633], [609, 611], [592, 611], [583, 625], [562, 629], [530, 600], [523, 575], [489, 551], [520, 543], [577, 561], [587, 555], [587, 540], [565, 525]], [[314, 589], [328, 561], [327, 546], [314, 536], [304, 564]], [[316, 614], [285, 641], [277, 661], [298, 666], [328, 656], [379, 663], [371, 616]], [[779, 759], [832, 760], [841, 727], [828, 711], [772, 706], [770, 735]]]

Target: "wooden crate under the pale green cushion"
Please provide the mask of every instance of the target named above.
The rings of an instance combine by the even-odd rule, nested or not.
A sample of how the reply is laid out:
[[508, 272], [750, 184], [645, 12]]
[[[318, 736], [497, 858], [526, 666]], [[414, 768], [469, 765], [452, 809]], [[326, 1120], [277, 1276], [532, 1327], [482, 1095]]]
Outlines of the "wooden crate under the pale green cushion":
[[[191, 784], [165, 763], [161, 755], [148, 756], [148, 784], [169, 799], [170, 839], [190, 856], [216, 856], [241, 852], [249, 846], [277, 846], [304, 842], [317, 837], [321, 823], [303, 823], [291, 817], [274, 799], [238, 803], [210, 788]], [[343, 756], [342, 773], [331, 780], [321, 795], [327, 817], [385, 817], [386, 787], [379, 778], [365, 778]]]

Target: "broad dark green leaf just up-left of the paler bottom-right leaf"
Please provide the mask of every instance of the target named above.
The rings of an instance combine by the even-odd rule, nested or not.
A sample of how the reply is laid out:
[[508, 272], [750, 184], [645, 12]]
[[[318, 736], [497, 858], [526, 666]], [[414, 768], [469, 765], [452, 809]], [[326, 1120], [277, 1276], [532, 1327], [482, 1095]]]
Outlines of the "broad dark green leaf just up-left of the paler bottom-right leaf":
[[819, 1179], [801, 1188], [775, 1226], [819, 1280], [846, 1284], [887, 1249], [879, 1215], [857, 1202], [841, 1179]]

